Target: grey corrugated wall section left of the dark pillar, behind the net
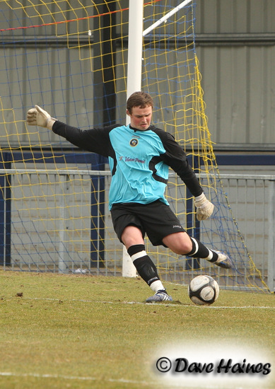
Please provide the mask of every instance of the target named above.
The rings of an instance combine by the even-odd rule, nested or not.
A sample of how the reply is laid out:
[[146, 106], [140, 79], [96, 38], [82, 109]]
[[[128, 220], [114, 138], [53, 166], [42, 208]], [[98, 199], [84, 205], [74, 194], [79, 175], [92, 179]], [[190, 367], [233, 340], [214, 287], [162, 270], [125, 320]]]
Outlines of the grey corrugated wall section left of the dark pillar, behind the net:
[[[74, 13], [69, 11], [66, 2], [59, 4], [67, 19], [85, 18], [86, 13], [79, 6], [77, 0], [72, 0], [71, 6], [75, 7]], [[25, 14], [21, 6], [16, 7], [14, 1], [10, 4], [1, 2], [0, 24], [1, 29], [7, 29], [0, 35], [0, 86], [1, 103], [3, 105], [3, 119], [6, 122], [8, 143], [18, 144], [18, 134], [14, 131], [14, 121], [25, 120], [26, 110], [35, 104], [41, 105], [52, 116], [57, 115], [60, 120], [70, 120], [71, 124], [85, 127], [88, 122], [93, 122], [93, 80], [90, 71], [90, 61], [84, 59], [88, 49], [81, 46], [88, 44], [86, 41], [79, 43], [82, 38], [77, 36], [78, 23], [60, 23], [64, 17], [62, 13], [54, 13], [57, 8], [52, 3], [48, 8], [27, 6]], [[45, 9], [47, 13], [45, 13]], [[90, 5], [90, 14], [93, 7]], [[42, 12], [40, 16], [39, 12]], [[53, 12], [53, 13], [52, 13]], [[28, 25], [30, 18], [33, 25], [49, 23], [47, 28], [19, 28]], [[86, 30], [93, 29], [93, 18], [82, 21]], [[12, 30], [9, 30], [9, 29]], [[78, 45], [80, 48], [78, 49]], [[97, 45], [94, 45], [97, 46]], [[67, 50], [67, 47], [76, 47]], [[88, 55], [89, 57], [89, 52]], [[81, 87], [79, 75], [85, 78]], [[83, 103], [85, 102], [85, 103]], [[75, 115], [77, 112], [77, 115]], [[35, 129], [28, 127], [28, 133], [23, 126], [18, 126], [21, 146], [37, 142]], [[4, 126], [0, 128], [1, 146], [5, 146]], [[54, 134], [40, 132], [43, 144], [56, 141]]]

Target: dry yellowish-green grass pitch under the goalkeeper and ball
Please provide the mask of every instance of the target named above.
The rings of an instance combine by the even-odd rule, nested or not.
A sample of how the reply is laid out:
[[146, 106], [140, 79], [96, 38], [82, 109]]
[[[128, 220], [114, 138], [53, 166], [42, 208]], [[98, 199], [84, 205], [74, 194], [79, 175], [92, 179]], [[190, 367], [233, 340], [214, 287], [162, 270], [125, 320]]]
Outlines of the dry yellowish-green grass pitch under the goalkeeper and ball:
[[[148, 304], [139, 278], [1, 271], [0, 388], [275, 387], [274, 294], [221, 290], [201, 307], [186, 286], [166, 286], [174, 301]], [[175, 349], [189, 364], [209, 364], [219, 349], [233, 364], [269, 363], [270, 373], [167, 378], [156, 361]]]

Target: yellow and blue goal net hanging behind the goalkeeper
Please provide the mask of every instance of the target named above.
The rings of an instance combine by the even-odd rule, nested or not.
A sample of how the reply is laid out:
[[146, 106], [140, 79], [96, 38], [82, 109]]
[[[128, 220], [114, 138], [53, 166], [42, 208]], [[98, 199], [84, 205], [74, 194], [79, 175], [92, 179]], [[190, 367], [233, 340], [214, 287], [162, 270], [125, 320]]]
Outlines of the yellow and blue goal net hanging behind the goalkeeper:
[[[186, 1], [170, 12], [175, 3], [182, 2], [144, 1], [141, 88], [153, 96], [153, 122], [185, 149], [216, 207], [211, 219], [197, 221], [192, 196], [172, 171], [168, 202], [187, 232], [228, 253], [234, 269], [147, 240], [146, 250], [166, 281], [187, 284], [206, 273], [224, 288], [267, 291], [216, 166], [195, 50], [196, 4]], [[125, 122], [129, 2], [0, 0], [0, 9], [0, 265], [121, 275], [122, 245], [107, 209], [107, 161], [47, 129], [27, 127], [25, 115], [37, 104], [80, 128]]]

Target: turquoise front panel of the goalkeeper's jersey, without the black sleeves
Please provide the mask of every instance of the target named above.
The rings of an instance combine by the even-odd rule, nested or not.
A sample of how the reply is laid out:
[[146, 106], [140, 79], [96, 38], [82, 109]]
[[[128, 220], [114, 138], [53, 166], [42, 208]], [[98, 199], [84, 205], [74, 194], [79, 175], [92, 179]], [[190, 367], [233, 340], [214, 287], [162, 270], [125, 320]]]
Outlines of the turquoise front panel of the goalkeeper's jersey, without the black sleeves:
[[168, 204], [164, 191], [169, 167], [159, 159], [165, 149], [156, 132], [137, 133], [129, 126], [116, 127], [110, 132], [110, 141], [115, 150], [115, 160], [109, 157], [110, 170], [115, 173], [110, 187], [110, 205], [117, 202], [147, 204], [157, 199]]

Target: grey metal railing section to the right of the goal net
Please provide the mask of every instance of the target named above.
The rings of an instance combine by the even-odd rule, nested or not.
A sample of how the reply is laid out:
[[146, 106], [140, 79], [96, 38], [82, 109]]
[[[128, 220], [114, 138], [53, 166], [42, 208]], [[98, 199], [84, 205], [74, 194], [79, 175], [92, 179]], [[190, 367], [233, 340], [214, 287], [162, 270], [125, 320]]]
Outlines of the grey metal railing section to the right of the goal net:
[[275, 290], [275, 175], [221, 174], [228, 204], [257, 268]]

